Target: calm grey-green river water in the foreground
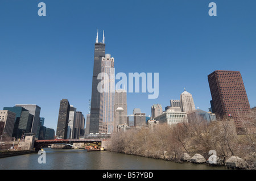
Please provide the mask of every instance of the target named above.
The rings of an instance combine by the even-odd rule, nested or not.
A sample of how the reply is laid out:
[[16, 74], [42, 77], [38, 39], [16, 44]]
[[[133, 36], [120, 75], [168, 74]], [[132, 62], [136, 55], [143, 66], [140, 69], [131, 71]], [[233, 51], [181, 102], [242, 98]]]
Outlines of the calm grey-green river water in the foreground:
[[211, 167], [206, 164], [175, 163], [113, 153], [77, 149], [46, 148], [46, 163], [38, 163], [39, 154], [26, 154], [0, 158], [0, 170], [212, 170], [225, 167]]

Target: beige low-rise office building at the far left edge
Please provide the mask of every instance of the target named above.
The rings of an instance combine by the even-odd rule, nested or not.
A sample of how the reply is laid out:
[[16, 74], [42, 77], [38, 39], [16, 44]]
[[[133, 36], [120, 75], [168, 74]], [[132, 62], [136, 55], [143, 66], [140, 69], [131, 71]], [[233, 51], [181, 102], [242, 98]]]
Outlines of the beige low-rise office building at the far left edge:
[[8, 110], [0, 111], [0, 122], [4, 123], [2, 132], [7, 134], [10, 137], [13, 135], [15, 118], [16, 118], [16, 113], [14, 112], [11, 112]]

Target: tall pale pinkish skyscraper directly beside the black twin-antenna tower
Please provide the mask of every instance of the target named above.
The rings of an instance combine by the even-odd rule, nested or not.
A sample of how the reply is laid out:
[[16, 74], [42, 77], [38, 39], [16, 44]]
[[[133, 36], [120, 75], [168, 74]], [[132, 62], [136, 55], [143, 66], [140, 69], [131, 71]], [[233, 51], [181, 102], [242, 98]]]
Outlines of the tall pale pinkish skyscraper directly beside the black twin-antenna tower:
[[[101, 73], [108, 74], [108, 78], [102, 78], [100, 94], [100, 123], [99, 133], [112, 133], [114, 131], [114, 106], [115, 106], [115, 73], [114, 58], [110, 54], [102, 57]], [[92, 116], [92, 112], [91, 112]], [[90, 117], [90, 120], [92, 117]]]

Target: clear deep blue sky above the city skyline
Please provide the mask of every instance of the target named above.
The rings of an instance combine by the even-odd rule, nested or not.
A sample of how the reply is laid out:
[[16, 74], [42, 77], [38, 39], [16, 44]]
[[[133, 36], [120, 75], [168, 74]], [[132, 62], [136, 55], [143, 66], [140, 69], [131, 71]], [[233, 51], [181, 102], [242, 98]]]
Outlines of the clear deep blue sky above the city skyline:
[[[46, 16], [38, 16], [38, 3]], [[210, 2], [217, 16], [209, 16]], [[184, 87], [208, 111], [207, 75], [241, 71], [256, 106], [256, 1], [0, 1], [0, 109], [38, 104], [45, 126], [56, 130], [60, 100], [88, 113], [97, 29], [115, 73], [159, 73], [159, 97], [128, 93], [134, 108], [170, 106]]]

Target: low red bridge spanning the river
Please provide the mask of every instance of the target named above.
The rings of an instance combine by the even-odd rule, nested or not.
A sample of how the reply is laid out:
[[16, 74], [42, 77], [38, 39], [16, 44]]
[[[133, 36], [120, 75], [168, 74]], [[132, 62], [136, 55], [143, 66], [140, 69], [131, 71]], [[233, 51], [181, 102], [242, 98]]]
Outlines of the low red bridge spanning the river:
[[103, 139], [36, 140], [35, 144], [34, 144], [34, 148], [38, 150], [38, 149], [41, 149], [43, 146], [46, 146], [46, 145], [51, 145], [51, 144], [71, 144], [73, 142], [93, 143], [93, 144], [96, 144], [96, 145], [100, 146], [102, 141], [106, 141], [106, 140], [103, 140]]

